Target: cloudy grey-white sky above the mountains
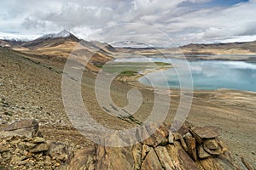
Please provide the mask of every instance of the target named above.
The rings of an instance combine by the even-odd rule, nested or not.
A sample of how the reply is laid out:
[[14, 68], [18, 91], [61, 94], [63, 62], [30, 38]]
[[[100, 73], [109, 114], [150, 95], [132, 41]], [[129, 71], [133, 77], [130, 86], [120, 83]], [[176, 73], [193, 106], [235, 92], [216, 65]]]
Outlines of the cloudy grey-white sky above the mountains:
[[178, 45], [254, 41], [256, 0], [0, 1], [0, 38], [34, 39], [64, 29], [85, 40], [138, 37], [159, 47], [168, 38]]

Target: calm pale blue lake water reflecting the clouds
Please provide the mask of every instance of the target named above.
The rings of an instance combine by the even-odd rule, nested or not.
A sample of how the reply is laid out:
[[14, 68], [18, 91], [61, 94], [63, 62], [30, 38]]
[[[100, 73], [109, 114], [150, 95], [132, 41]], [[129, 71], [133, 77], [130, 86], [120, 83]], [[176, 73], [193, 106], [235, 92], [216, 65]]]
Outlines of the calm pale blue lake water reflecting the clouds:
[[[125, 59], [138, 62], [143, 59]], [[170, 62], [169, 59], [153, 58], [151, 61]], [[172, 59], [172, 61], [181, 61], [181, 59]], [[120, 60], [121, 61], [121, 60]], [[124, 61], [124, 60], [123, 60]], [[174, 62], [175, 63], [175, 62]], [[180, 62], [182, 63], [182, 61]], [[247, 63], [244, 61], [224, 61], [224, 60], [196, 60], [188, 61], [194, 89], [215, 90], [218, 88], [230, 88], [246, 91], [256, 91], [256, 63]], [[183, 67], [184, 65], [177, 65]], [[165, 79], [168, 83], [166, 87]], [[183, 78], [182, 74], [179, 78]], [[179, 79], [175, 69], [166, 71], [155, 71], [139, 78], [139, 82], [165, 88], [179, 88]]]

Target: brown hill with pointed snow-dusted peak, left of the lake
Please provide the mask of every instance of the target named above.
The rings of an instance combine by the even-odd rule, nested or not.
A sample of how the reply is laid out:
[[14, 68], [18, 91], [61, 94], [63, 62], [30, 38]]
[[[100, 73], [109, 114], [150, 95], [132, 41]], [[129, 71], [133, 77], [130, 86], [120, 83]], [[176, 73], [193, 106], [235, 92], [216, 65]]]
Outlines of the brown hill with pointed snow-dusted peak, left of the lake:
[[83, 65], [84, 59], [91, 57], [87, 67], [91, 71], [99, 71], [99, 65], [103, 65], [112, 59], [110, 56], [114, 48], [108, 43], [87, 42], [80, 40], [69, 31], [47, 34], [35, 40], [18, 42], [0, 40], [0, 46], [11, 48], [27, 56], [37, 58], [55, 59], [65, 61], [70, 54], [76, 55], [76, 60]]

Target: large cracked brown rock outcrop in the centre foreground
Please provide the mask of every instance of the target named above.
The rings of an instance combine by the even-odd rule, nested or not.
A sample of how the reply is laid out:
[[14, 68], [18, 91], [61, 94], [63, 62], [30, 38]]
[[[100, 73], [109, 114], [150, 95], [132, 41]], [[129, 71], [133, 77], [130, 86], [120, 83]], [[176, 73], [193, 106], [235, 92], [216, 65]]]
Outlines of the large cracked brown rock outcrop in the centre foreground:
[[[170, 134], [172, 137], [168, 135], [170, 127], [162, 125], [150, 138], [131, 147], [96, 144], [95, 151], [84, 150], [83, 156], [80, 152], [75, 154], [72, 166], [77, 169], [136, 170], [235, 170], [250, 166], [241, 167], [232, 159], [230, 151], [218, 139], [218, 127], [191, 127], [185, 123], [177, 133]], [[168, 142], [168, 139], [172, 141]]]

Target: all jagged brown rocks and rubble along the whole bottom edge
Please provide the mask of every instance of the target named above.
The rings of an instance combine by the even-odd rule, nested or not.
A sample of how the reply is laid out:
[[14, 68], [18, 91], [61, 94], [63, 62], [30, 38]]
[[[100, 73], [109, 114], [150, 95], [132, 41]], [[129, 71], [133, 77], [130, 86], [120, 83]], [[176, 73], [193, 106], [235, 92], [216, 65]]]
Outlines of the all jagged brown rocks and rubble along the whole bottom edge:
[[[138, 138], [148, 133], [148, 127], [143, 129]], [[233, 160], [218, 139], [218, 127], [192, 127], [186, 122], [177, 133], [170, 134], [169, 129], [162, 125], [131, 147], [95, 144], [73, 152], [67, 144], [44, 139], [35, 120], [21, 120], [0, 132], [0, 169], [253, 169], [243, 158], [243, 166]]]

